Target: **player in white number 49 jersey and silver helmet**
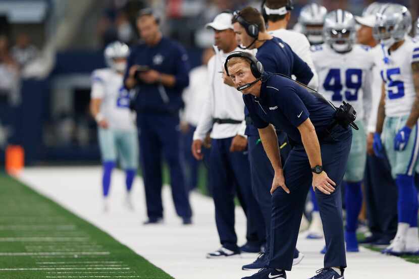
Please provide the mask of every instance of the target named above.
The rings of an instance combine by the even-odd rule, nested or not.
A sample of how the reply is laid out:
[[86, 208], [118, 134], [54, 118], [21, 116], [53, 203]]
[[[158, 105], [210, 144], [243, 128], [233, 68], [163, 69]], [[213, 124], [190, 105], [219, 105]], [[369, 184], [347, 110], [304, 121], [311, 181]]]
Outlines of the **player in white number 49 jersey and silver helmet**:
[[[364, 109], [371, 102], [371, 69], [374, 56], [369, 46], [355, 44], [355, 20], [351, 13], [336, 10], [325, 18], [325, 43], [311, 46], [312, 59], [319, 75], [319, 92], [339, 107], [349, 102], [357, 112], [352, 147], [344, 177], [346, 202], [346, 251], [358, 252], [356, 226], [362, 205], [361, 181], [366, 161]], [[368, 118], [366, 118], [368, 119]]]

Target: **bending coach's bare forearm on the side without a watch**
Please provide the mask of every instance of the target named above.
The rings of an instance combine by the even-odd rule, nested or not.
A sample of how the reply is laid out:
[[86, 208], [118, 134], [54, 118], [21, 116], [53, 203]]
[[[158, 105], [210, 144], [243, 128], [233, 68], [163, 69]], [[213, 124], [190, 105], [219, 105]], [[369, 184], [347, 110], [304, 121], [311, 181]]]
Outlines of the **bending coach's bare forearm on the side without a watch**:
[[272, 125], [264, 129], [258, 129], [260, 140], [264, 146], [265, 152], [271, 161], [275, 172], [282, 171], [281, 156], [279, 153], [278, 138]]

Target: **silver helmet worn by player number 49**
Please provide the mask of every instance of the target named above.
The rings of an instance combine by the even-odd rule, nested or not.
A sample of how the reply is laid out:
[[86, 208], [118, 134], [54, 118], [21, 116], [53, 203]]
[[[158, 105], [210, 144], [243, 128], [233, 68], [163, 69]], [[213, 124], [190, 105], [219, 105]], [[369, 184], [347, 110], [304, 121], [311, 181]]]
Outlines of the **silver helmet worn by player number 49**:
[[325, 42], [337, 52], [351, 50], [356, 38], [353, 15], [341, 9], [327, 14], [323, 26], [323, 37]]

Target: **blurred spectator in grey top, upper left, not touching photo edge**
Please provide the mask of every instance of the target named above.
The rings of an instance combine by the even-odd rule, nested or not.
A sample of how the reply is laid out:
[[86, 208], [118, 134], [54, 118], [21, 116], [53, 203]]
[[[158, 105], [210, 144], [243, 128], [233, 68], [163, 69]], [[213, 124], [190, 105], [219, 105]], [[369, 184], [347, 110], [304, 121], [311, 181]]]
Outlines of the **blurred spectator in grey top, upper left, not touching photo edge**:
[[31, 43], [27, 33], [20, 33], [16, 38], [16, 44], [12, 47], [12, 57], [18, 63], [20, 69], [35, 59], [38, 48]]

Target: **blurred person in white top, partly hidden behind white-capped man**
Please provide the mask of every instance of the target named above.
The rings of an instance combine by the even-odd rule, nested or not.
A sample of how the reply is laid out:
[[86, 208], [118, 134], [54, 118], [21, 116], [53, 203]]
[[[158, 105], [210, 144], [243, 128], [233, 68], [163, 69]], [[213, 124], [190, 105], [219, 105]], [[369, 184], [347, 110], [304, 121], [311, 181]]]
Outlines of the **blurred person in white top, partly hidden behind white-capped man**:
[[182, 153], [186, 165], [186, 184], [193, 190], [198, 182], [198, 161], [191, 152], [193, 133], [198, 125], [202, 107], [209, 91], [207, 64], [214, 55], [214, 49], [207, 48], [202, 53], [202, 65], [189, 73], [189, 87], [183, 91], [185, 108], [183, 120], [180, 123], [182, 131]]

